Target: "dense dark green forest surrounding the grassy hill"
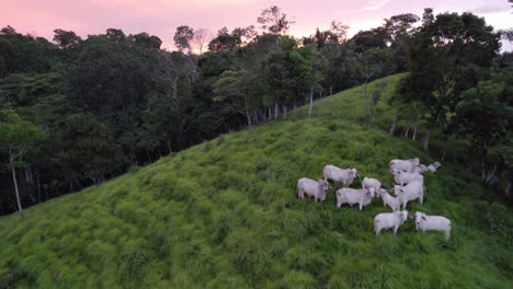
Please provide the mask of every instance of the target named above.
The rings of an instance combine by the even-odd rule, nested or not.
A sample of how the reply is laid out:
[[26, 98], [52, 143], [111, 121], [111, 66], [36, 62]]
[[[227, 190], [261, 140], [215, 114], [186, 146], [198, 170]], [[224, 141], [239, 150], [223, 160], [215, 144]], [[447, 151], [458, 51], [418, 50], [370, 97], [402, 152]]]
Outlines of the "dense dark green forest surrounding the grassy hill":
[[[406, 72], [387, 102], [388, 134], [459, 160], [506, 204], [513, 201], [513, 30], [495, 31], [469, 12], [403, 13], [347, 37], [332, 21], [311, 36], [288, 33], [278, 7], [255, 25], [179, 26], [176, 49], [146, 32], [107, 28], [82, 39], [56, 28], [52, 41], [0, 31], [0, 215], [100, 185], [161, 157], [261, 123], [296, 119], [299, 106], [364, 86], [347, 116], [379, 122], [387, 84]], [[335, 108], [333, 108], [335, 109]], [[444, 141], [444, 146], [436, 146]], [[458, 147], [459, 148], [459, 147]]]

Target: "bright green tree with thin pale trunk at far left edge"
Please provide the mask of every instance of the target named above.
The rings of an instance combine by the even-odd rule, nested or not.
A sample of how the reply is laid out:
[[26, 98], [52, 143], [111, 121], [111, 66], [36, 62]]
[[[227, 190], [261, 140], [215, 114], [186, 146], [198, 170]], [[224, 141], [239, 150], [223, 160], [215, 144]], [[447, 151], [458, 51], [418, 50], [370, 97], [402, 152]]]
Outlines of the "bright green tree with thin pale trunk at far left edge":
[[25, 155], [34, 143], [45, 138], [45, 132], [36, 125], [23, 120], [14, 111], [0, 112], [0, 150], [5, 151], [8, 166], [12, 173], [12, 182], [16, 194], [18, 209], [23, 216], [23, 208], [18, 187], [16, 169], [24, 167]]

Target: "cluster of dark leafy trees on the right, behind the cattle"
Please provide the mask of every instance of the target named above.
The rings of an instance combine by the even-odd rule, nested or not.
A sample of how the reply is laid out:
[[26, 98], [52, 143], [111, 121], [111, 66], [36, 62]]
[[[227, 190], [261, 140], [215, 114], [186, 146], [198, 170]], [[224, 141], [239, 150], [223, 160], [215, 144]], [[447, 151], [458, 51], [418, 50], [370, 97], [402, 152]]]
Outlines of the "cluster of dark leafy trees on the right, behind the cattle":
[[511, 53], [498, 54], [501, 37], [511, 41], [472, 13], [425, 9], [407, 41], [409, 74], [394, 101], [415, 130], [424, 124], [424, 149], [434, 128], [468, 141], [470, 170], [512, 201], [513, 66]]

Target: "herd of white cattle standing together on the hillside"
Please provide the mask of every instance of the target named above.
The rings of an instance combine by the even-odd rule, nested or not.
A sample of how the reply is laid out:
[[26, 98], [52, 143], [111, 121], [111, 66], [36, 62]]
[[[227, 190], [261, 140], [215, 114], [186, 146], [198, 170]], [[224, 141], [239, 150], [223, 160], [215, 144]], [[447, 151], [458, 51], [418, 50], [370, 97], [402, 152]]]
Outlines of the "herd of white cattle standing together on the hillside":
[[[364, 177], [362, 180], [362, 188], [350, 188], [356, 176], [360, 176], [356, 169], [340, 169], [334, 165], [326, 165], [323, 170], [324, 178], [318, 181], [301, 177], [297, 182], [297, 194], [300, 199], [306, 196], [314, 197], [315, 200], [323, 201], [326, 192], [331, 187], [329, 181], [339, 183], [342, 188], [337, 190], [337, 207], [343, 204], [350, 206], [358, 205], [360, 210], [369, 205], [373, 198], [381, 198], [384, 206], [391, 208], [392, 212], [378, 213], [374, 218], [374, 231], [379, 234], [383, 229], [394, 229], [394, 233], [408, 219], [415, 220], [415, 228], [424, 231], [442, 231], [445, 239], [451, 236], [451, 220], [442, 216], [428, 216], [424, 212], [417, 211], [415, 215], [410, 215], [406, 210], [408, 201], [418, 199], [422, 205], [426, 194], [424, 185], [425, 172], [435, 173], [441, 166], [440, 162], [434, 162], [430, 165], [420, 163], [419, 158], [410, 160], [391, 160], [388, 164], [390, 173], [394, 174], [394, 185], [390, 190], [394, 192], [392, 197], [387, 189], [381, 187], [381, 182], [376, 178]], [[402, 206], [402, 211], [400, 207]]]

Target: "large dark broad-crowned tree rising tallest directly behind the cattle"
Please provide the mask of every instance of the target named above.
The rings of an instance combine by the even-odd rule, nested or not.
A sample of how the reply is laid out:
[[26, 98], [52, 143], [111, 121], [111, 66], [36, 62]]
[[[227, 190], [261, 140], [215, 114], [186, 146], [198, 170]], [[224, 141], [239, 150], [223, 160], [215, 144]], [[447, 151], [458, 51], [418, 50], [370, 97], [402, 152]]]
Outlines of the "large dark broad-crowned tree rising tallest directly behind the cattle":
[[429, 111], [424, 136], [444, 125], [463, 91], [477, 84], [499, 50], [499, 34], [472, 13], [444, 13], [436, 18], [426, 9], [423, 24], [408, 44], [410, 74], [401, 85], [406, 100], [419, 100]]

